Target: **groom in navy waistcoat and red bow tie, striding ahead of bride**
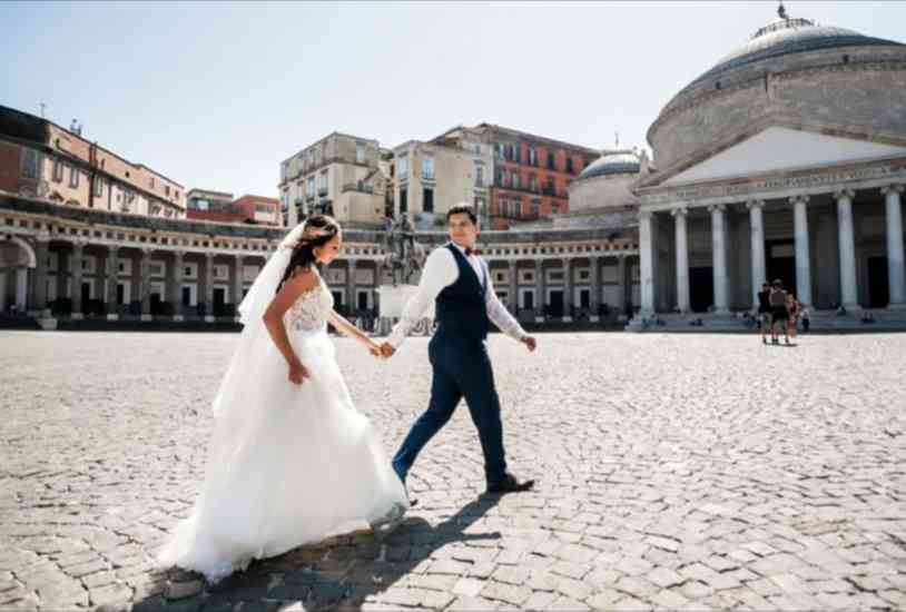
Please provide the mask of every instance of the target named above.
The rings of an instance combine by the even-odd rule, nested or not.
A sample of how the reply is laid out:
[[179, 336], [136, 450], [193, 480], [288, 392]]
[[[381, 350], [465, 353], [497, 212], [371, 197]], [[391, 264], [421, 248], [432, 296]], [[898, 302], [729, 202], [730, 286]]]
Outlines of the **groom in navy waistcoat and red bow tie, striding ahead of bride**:
[[506, 471], [500, 401], [484, 339], [491, 322], [530, 352], [535, 349], [535, 339], [525, 334], [494, 293], [488, 264], [475, 253], [479, 227], [472, 207], [454, 206], [446, 220], [451, 241], [429, 256], [417, 293], [406, 304], [388, 340], [381, 345], [384, 357], [392, 356], [435, 302], [437, 330], [427, 347], [433, 368], [431, 402], [393, 457], [393, 468], [405, 484], [415, 457], [464, 397], [479, 430], [488, 492], [528, 491], [534, 481], [520, 481]]

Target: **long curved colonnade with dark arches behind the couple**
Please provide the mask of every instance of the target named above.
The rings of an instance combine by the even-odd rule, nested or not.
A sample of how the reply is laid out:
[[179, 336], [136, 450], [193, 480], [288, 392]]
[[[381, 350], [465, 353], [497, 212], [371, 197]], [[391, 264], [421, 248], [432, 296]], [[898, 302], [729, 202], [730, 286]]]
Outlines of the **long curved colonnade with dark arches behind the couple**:
[[[73, 320], [233, 322], [283, 228], [141, 218], [0, 194], [0, 313]], [[324, 277], [337, 309], [376, 315], [381, 231], [347, 229]], [[447, 239], [421, 231], [427, 248]], [[616, 322], [639, 303], [638, 244], [602, 229], [481, 235], [495, 288], [525, 323]]]

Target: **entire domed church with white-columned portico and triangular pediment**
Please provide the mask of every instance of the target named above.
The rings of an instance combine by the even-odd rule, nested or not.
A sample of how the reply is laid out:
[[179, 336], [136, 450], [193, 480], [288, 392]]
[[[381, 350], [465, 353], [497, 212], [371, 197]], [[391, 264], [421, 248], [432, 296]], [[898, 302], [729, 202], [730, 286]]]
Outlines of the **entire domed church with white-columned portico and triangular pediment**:
[[819, 316], [897, 320], [906, 46], [781, 10], [677, 93], [648, 139], [643, 315], [731, 316], [780, 279]]

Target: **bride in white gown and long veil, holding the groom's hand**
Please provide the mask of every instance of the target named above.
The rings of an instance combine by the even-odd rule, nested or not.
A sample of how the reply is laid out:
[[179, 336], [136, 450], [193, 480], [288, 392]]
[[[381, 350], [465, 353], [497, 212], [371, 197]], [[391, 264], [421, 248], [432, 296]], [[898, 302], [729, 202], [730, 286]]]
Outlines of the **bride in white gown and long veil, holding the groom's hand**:
[[245, 325], [214, 399], [205, 482], [158, 555], [217, 582], [253, 559], [397, 519], [408, 507], [334, 358], [329, 322], [380, 356], [333, 309], [315, 264], [342, 246], [315, 215], [290, 231], [239, 306]]

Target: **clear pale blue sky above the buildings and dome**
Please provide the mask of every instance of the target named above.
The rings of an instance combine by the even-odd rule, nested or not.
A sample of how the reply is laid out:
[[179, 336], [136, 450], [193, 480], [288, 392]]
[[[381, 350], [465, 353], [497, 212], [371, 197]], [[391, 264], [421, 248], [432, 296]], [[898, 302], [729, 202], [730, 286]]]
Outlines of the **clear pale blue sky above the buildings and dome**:
[[[786, 3], [906, 41], [906, 2]], [[0, 103], [181, 182], [274, 196], [337, 130], [393, 147], [481, 121], [647, 146], [664, 103], [777, 2], [0, 2]]]

